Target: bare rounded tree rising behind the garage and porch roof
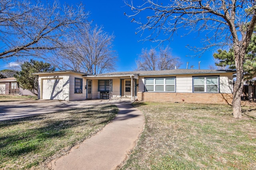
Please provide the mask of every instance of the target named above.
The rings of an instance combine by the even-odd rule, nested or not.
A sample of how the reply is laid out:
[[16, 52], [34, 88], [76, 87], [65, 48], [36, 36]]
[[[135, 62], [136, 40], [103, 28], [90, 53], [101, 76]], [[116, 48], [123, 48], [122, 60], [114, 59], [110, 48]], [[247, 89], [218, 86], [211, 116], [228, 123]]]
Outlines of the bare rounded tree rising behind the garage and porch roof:
[[114, 35], [104, 32], [102, 27], [80, 27], [69, 37], [69, 47], [58, 51], [54, 66], [87, 74], [102, 74], [116, 70], [117, 56], [112, 49]]

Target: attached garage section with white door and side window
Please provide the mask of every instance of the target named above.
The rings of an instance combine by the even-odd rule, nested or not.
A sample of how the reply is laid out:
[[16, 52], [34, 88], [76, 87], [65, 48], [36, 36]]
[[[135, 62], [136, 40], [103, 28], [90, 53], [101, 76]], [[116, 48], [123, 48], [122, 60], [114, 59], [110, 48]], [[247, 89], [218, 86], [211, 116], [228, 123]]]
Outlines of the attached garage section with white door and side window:
[[84, 73], [64, 70], [33, 74], [38, 75], [38, 99], [65, 101], [86, 99], [87, 84], [83, 79]]

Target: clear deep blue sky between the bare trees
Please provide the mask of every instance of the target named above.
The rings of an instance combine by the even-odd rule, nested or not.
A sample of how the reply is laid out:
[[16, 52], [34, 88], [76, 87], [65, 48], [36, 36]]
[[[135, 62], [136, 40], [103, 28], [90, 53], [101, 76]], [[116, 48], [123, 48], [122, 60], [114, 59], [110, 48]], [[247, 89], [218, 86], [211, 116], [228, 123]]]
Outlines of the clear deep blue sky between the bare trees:
[[[123, 0], [60, 0], [60, 3], [79, 4], [82, 2], [85, 5], [85, 10], [90, 12], [89, 20], [93, 20], [93, 24], [102, 25], [104, 31], [114, 34], [113, 42], [114, 50], [118, 54], [117, 71], [132, 71], [136, 69], [135, 60], [143, 48], [150, 49], [156, 47], [158, 43], [149, 41], [140, 41], [142, 37], [135, 34], [136, 28], [139, 25], [132, 23], [132, 18], [124, 16], [132, 14], [131, 9], [126, 6]], [[172, 41], [164, 43], [164, 47], [169, 46], [174, 57], [180, 57], [183, 63], [180, 68], [188, 68], [194, 65], [194, 69], [198, 69], [198, 62], [200, 61], [200, 69], [209, 69], [209, 65], [214, 65], [213, 53], [216, 50], [206, 51], [200, 58], [190, 57], [195, 53], [186, 48], [186, 45], [192, 47], [200, 45], [200, 37], [198, 33], [182, 36], [182, 31], [174, 35]], [[0, 70], [7, 69], [8, 63], [12, 61], [0, 60]]]

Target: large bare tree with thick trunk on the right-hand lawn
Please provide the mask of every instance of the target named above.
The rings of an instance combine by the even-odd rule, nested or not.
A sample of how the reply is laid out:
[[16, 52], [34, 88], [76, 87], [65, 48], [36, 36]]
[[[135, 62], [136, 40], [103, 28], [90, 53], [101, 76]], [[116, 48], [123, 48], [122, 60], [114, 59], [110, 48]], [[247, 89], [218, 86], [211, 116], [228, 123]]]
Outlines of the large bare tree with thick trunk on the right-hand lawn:
[[[138, 2], [136, 2], [138, 3]], [[133, 1], [126, 4], [135, 12], [130, 17], [140, 24], [139, 31], [152, 32], [146, 37], [156, 40], [158, 35], [170, 39], [178, 29], [186, 33], [199, 31], [205, 34], [206, 47], [231, 45], [234, 48], [237, 79], [233, 89], [233, 116], [241, 118], [241, 94], [244, 82], [243, 63], [256, 24], [256, 1], [254, 0], [144, 0], [142, 4]], [[136, 20], [136, 16], [147, 12], [146, 20]], [[145, 14], [145, 13], [144, 13]]]

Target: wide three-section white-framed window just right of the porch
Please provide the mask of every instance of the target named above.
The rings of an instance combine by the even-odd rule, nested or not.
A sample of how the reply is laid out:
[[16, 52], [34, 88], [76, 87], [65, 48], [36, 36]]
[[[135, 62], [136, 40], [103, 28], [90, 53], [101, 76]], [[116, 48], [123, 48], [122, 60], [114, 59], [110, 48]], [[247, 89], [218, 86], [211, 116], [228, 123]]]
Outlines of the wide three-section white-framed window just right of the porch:
[[175, 78], [145, 78], [146, 92], [175, 92]]

